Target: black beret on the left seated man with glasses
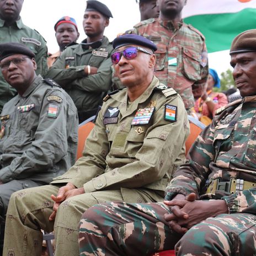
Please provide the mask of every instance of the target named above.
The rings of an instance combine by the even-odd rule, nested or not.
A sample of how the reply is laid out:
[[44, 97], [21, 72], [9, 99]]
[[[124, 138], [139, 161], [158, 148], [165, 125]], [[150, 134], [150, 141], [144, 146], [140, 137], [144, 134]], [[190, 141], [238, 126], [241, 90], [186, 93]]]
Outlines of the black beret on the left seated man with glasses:
[[31, 58], [35, 57], [33, 51], [31, 51], [25, 45], [19, 44], [18, 42], [7, 42], [5, 44], [0, 44], [0, 61], [14, 54], [23, 54]]

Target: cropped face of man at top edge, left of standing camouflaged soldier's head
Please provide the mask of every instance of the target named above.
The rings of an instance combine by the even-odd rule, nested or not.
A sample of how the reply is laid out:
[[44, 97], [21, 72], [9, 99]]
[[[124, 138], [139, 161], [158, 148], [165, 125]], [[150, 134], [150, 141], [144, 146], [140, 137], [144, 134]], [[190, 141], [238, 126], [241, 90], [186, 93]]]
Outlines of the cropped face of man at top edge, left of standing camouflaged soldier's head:
[[157, 0], [136, 0], [136, 3], [140, 8], [141, 20], [159, 17]]

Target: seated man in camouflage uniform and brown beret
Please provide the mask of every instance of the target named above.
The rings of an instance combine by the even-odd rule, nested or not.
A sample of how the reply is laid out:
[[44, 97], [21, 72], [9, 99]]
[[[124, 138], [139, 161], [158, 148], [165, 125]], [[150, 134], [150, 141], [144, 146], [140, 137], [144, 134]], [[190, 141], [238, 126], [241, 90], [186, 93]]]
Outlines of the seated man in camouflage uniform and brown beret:
[[[218, 110], [166, 189], [164, 202], [91, 207], [80, 255], [256, 255], [256, 30], [234, 38], [233, 78], [242, 99]], [[155, 254], [158, 255], [158, 254]]]

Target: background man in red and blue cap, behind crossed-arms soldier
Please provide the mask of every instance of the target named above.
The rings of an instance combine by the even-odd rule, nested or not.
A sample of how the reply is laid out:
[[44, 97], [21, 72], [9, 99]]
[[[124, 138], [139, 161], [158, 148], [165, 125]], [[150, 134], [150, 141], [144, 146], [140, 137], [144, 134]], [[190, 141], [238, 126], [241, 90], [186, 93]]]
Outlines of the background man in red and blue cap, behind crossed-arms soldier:
[[49, 54], [47, 58], [48, 67], [51, 67], [56, 59], [60, 57], [61, 52], [65, 49], [65, 47], [76, 44], [76, 41], [79, 38], [76, 20], [69, 16], [60, 18], [54, 25], [54, 30], [60, 49], [55, 52], [55, 54]]

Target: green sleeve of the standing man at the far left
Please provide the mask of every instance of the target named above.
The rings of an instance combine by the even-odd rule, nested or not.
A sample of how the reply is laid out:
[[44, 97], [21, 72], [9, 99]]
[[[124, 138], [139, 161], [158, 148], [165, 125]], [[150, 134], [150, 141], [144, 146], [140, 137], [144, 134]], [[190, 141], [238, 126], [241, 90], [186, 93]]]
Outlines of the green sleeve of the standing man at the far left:
[[38, 68], [36, 69], [36, 74], [41, 74], [42, 77], [46, 76], [48, 72], [47, 66], [47, 46], [44, 38], [41, 36], [41, 47], [39, 48], [38, 53], [35, 56], [36, 65]]

